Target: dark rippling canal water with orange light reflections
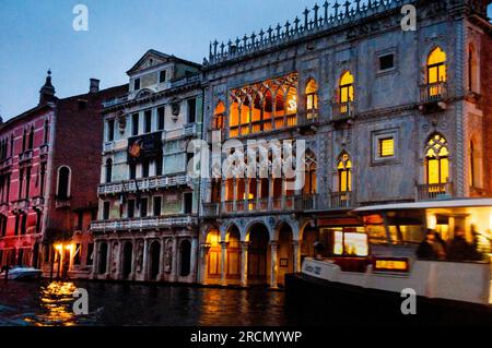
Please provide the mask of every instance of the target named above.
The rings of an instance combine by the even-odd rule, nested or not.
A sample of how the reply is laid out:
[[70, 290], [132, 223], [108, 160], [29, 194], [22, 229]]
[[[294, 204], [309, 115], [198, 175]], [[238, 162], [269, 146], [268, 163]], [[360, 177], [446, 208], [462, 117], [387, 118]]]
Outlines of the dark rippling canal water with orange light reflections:
[[[75, 288], [87, 315], [72, 310]], [[0, 325], [296, 325], [282, 291], [91, 281], [0, 280]], [[306, 324], [304, 322], [304, 324]]]

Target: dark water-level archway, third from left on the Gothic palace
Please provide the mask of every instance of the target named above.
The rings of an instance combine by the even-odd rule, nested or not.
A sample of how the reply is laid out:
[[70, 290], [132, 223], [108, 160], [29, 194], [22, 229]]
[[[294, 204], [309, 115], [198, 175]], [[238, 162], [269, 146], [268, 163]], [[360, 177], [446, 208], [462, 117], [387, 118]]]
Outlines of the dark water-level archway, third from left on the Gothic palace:
[[248, 247], [248, 283], [268, 284], [268, 229], [262, 224], [253, 225], [249, 228]]

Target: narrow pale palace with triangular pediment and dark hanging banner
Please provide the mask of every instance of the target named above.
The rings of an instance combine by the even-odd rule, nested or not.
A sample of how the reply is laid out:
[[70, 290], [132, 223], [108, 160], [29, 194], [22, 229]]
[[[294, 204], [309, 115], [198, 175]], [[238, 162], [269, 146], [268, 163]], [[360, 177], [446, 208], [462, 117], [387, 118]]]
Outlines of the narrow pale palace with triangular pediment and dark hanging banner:
[[187, 172], [200, 137], [200, 65], [149, 50], [130, 91], [105, 103], [93, 278], [194, 283], [198, 181]]

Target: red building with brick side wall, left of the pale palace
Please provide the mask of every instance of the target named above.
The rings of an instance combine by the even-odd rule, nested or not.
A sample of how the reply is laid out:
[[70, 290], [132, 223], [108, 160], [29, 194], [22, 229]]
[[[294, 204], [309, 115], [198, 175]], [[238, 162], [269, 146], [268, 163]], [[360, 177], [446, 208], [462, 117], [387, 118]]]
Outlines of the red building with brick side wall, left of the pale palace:
[[87, 94], [59, 99], [48, 72], [39, 104], [0, 125], [0, 265], [89, 273], [102, 101], [127, 89], [91, 79]]

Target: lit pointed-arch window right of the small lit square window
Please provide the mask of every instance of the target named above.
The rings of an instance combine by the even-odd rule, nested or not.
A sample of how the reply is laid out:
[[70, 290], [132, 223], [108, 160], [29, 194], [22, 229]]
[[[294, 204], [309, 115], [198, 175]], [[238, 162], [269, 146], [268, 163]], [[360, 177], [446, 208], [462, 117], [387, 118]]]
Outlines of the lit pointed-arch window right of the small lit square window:
[[425, 160], [429, 184], [446, 183], [449, 179], [449, 153], [446, 139], [440, 134], [430, 137]]

